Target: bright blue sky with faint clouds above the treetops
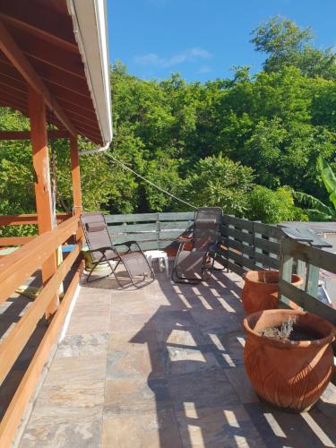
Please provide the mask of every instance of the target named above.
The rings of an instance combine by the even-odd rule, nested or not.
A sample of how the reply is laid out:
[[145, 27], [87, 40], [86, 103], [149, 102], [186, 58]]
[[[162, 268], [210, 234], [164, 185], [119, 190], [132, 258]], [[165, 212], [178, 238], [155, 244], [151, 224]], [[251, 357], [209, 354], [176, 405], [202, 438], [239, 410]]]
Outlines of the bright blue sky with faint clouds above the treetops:
[[144, 79], [179, 72], [187, 81], [257, 72], [264, 56], [249, 43], [260, 22], [281, 14], [311, 25], [318, 47], [335, 47], [335, 0], [108, 0], [111, 62]]

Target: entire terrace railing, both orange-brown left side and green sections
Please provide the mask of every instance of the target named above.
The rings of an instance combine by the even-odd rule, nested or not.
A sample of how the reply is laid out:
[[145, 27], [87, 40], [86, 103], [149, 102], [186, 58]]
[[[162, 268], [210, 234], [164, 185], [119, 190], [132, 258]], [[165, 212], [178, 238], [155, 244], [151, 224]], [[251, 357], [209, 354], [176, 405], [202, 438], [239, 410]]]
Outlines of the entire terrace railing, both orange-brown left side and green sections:
[[[162, 249], [170, 251], [171, 254], [174, 254], [177, 249], [177, 238], [187, 234], [192, 228], [193, 219], [193, 212], [107, 216], [108, 228], [115, 243], [123, 243], [130, 239], [137, 240], [143, 250]], [[31, 359], [13, 400], [4, 414], [0, 424], [1, 446], [8, 446], [13, 439], [14, 431], [20, 423], [42, 368], [47, 362], [50, 350], [65, 321], [73, 293], [82, 274], [83, 264], [82, 262], [77, 263], [82, 249], [82, 229], [78, 216], [69, 219], [60, 216], [58, 220], [61, 223], [54, 230], [39, 237], [25, 240], [20, 237], [0, 238], [1, 246], [26, 243], [13, 254], [0, 259], [0, 282], [2, 285], [0, 303], [11, 297], [15, 289], [21, 287], [35, 271], [38, 271], [42, 264], [55, 253], [57, 247], [63, 245], [69, 238], [74, 239], [72, 252], [57, 267], [39, 296], [28, 307], [0, 345], [1, 382], [13, 368], [39, 320], [47, 313], [48, 306], [56, 296], [65, 277], [73, 267], [75, 268], [65, 296], [50, 321], [47, 331], [39, 343], [39, 348]], [[34, 215], [0, 217], [0, 225], [36, 224], [36, 222]], [[298, 239], [304, 240], [304, 242], [298, 241]], [[239, 275], [254, 269], [279, 269], [281, 273], [280, 297], [283, 306], [288, 306], [289, 301], [295, 302], [307, 311], [323, 315], [336, 324], [336, 309], [324, 305], [316, 298], [319, 269], [336, 273], [336, 254], [316, 247], [323, 246], [319, 238], [315, 238], [311, 234], [307, 236], [297, 232], [289, 237], [280, 227], [225, 215], [221, 227], [220, 243], [218, 261], [225, 268], [235, 271]], [[293, 269], [305, 277], [303, 289], [297, 289], [289, 283], [288, 280]]]

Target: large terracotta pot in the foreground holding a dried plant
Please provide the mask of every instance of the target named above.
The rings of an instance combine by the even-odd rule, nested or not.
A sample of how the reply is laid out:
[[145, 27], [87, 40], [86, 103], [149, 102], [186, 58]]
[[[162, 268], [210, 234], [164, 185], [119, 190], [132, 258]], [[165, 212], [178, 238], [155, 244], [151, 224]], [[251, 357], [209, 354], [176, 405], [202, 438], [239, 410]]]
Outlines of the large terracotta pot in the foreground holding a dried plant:
[[[296, 317], [301, 332], [317, 340], [277, 340], [258, 332]], [[247, 333], [244, 349], [246, 372], [255, 391], [271, 404], [302, 412], [320, 398], [332, 377], [332, 323], [298, 310], [267, 310], [244, 320]]]

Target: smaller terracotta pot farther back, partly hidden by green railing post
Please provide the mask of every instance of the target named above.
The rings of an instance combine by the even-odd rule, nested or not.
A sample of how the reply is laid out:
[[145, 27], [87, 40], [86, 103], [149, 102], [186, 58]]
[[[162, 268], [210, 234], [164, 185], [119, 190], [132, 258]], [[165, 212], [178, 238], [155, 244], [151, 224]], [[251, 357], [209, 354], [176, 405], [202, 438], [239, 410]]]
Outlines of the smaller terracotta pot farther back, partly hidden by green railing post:
[[[278, 307], [279, 271], [248, 271], [242, 292], [246, 314]], [[292, 285], [299, 287], [303, 279], [292, 275]]]

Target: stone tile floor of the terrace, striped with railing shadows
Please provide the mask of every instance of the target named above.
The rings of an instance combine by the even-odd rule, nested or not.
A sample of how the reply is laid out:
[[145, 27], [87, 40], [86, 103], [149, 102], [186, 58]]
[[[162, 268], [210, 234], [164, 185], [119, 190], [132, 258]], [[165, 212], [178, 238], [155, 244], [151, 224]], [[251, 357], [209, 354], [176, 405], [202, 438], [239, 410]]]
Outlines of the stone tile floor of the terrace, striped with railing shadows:
[[246, 378], [241, 279], [143, 289], [82, 282], [21, 448], [336, 444], [336, 391], [309, 413], [258, 400]]

